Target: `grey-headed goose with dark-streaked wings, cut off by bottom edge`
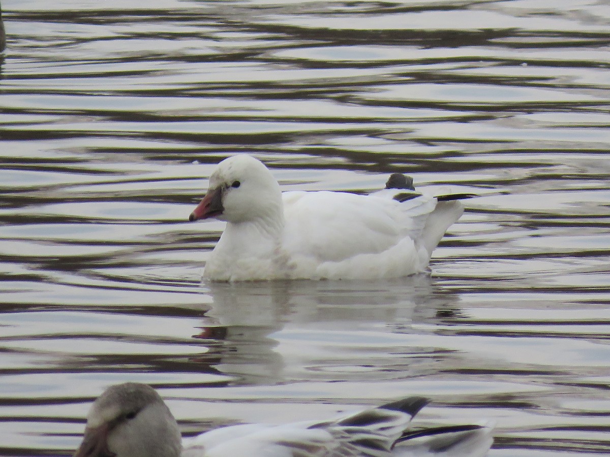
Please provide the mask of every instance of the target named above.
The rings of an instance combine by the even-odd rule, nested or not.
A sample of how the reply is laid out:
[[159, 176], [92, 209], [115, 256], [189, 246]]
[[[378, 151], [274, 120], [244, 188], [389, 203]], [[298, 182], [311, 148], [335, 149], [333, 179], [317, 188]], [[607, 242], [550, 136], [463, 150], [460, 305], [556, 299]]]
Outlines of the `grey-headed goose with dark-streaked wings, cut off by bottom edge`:
[[484, 456], [493, 439], [483, 425], [407, 430], [427, 403], [410, 397], [335, 420], [234, 425], [185, 439], [147, 384], [110, 386], [87, 416], [74, 457]]

